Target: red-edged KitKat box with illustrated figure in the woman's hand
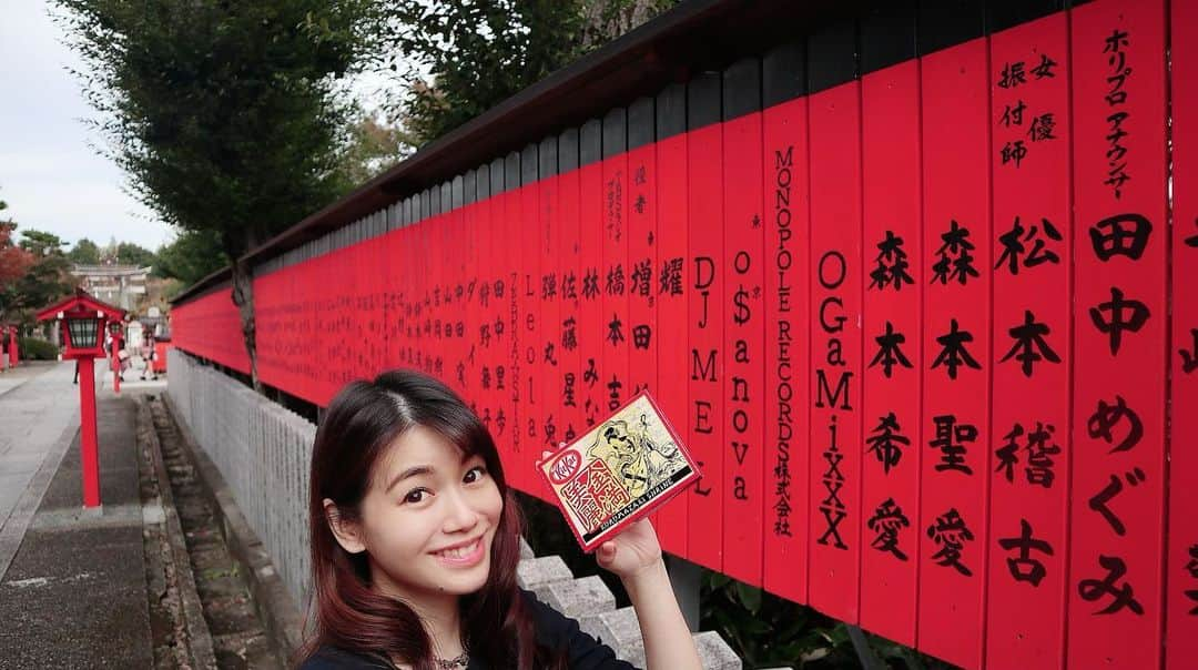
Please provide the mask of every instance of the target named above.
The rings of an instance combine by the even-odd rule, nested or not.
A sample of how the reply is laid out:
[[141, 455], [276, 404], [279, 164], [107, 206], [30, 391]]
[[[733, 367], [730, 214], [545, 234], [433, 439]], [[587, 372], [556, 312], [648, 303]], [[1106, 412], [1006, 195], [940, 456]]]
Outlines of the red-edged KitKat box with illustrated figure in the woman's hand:
[[646, 391], [539, 460], [537, 470], [588, 553], [700, 477], [678, 433]]

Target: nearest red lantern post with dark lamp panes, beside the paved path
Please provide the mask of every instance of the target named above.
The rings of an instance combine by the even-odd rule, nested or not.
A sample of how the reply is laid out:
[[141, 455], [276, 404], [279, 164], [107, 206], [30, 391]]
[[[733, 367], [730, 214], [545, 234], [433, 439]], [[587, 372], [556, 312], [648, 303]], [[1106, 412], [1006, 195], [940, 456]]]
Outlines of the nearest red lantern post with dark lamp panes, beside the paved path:
[[62, 333], [62, 357], [79, 362], [79, 433], [83, 460], [83, 506], [99, 507], [99, 451], [96, 442], [96, 368], [104, 355], [103, 333], [109, 320], [125, 310], [101, 302], [83, 289], [38, 312], [38, 321], [54, 319]]

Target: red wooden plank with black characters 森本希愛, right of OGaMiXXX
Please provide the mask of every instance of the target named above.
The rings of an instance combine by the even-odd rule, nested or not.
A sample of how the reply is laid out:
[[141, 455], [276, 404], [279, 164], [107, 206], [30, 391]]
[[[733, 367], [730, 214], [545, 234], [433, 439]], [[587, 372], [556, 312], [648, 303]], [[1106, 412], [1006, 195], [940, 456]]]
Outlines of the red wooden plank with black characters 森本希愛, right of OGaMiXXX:
[[[927, 285], [920, 249], [919, 64], [861, 78], [865, 398], [861, 626], [915, 644], [920, 370]], [[907, 165], [909, 169], [895, 169]]]

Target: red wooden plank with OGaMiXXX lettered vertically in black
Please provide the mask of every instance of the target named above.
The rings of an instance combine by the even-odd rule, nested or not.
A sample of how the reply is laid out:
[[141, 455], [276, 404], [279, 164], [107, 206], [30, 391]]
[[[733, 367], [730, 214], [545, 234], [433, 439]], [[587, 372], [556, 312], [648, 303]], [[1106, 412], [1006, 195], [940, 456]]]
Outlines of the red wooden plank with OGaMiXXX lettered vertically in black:
[[812, 606], [858, 620], [861, 518], [860, 84], [810, 98]]

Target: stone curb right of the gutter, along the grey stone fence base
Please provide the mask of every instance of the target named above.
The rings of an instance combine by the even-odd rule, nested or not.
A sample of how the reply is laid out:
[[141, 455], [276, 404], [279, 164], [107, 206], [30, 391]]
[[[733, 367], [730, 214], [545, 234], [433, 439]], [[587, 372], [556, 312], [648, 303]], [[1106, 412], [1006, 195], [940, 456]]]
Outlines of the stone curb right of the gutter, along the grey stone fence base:
[[300, 608], [279, 578], [266, 547], [237, 507], [236, 499], [220, 471], [204, 449], [196, 446], [187, 424], [180, 421], [179, 408], [174, 400], [167, 393], [159, 398], [170, 411], [171, 421], [175, 422], [183, 442], [183, 451], [199, 473], [200, 488], [220, 521], [220, 531], [224, 533], [229, 553], [244, 568], [242, 572], [247, 575], [254, 608], [266, 627], [271, 644], [286, 664], [303, 642], [303, 617]]

